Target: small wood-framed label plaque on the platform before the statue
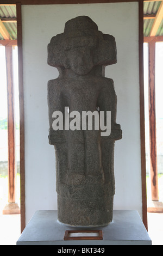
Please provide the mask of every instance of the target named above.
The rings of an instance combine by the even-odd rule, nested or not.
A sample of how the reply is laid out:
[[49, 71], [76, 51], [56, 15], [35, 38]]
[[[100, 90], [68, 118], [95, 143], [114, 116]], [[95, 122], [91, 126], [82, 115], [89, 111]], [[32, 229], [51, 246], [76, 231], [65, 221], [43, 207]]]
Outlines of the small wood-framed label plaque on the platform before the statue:
[[102, 230], [66, 230], [64, 240], [102, 240]]

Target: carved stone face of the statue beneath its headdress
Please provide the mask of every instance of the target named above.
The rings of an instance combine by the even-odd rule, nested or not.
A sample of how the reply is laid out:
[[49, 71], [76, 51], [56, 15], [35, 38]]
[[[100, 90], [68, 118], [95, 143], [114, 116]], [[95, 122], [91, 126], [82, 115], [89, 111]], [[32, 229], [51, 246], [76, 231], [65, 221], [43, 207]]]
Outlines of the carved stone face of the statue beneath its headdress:
[[95, 36], [83, 36], [66, 41], [65, 68], [78, 75], [86, 75], [93, 68], [93, 50], [97, 45]]

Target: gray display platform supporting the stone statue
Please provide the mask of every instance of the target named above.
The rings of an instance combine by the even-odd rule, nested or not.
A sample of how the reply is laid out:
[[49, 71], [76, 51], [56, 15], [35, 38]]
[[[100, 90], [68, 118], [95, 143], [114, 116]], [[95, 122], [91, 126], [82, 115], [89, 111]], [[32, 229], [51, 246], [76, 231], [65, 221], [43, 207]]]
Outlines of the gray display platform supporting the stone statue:
[[[102, 230], [103, 240], [64, 240], [66, 230]], [[137, 211], [114, 210], [113, 221], [105, 227], [79, 228], [61, 224], [57, 211], [36, 211], [17, 245], [152, 245]]]

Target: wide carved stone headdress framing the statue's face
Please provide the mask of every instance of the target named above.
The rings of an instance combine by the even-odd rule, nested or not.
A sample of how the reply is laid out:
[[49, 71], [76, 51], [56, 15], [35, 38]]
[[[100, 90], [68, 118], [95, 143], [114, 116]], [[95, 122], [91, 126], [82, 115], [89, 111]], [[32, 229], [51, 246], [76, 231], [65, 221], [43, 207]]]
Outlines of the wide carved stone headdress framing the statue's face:
[[88, 16], [78, 16], [67, 21], [64, 33], [53, 36], [48, 44], [48, 64], [67, 68], [65, 65], [67, 52], [75, 47], [92, 48], [95, 66], [106, 66], [117, 62], [114, 36], [98, 31], [98, 26]]

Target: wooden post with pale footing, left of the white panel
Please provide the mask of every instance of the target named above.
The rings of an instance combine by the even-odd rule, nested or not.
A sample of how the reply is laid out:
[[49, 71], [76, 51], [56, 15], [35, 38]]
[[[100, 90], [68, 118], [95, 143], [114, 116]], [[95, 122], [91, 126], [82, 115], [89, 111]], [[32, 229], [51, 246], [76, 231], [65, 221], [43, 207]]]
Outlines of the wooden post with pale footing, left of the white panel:
[[7, 68], [7, 99], [8, 99], [8, 204], [3, 214], [20, 214], [20, 208], [15, 203], [15, 176], [16, 176], [16, 150], [15, 150], [15, 111], [14, 111], [14, 83], [12, 72], [12, 46], [5, 46]]

